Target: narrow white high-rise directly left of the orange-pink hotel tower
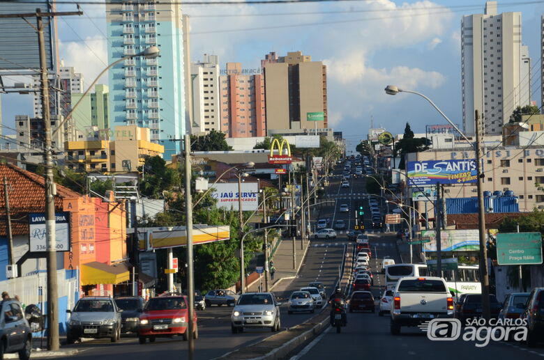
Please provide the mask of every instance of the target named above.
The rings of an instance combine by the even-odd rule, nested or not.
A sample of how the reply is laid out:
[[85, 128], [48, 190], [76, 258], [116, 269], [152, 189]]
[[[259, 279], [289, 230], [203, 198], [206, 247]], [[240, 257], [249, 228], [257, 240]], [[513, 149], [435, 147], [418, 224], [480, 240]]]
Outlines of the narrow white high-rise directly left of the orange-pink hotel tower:
[[219, 72], [217, 55], [204, 54], [202, 61], [191, 64], [191, 134], [220, 131]]

